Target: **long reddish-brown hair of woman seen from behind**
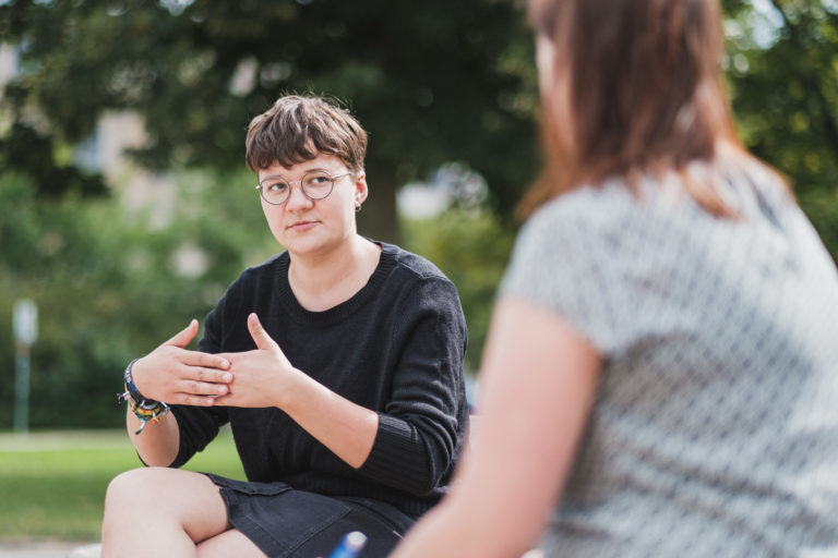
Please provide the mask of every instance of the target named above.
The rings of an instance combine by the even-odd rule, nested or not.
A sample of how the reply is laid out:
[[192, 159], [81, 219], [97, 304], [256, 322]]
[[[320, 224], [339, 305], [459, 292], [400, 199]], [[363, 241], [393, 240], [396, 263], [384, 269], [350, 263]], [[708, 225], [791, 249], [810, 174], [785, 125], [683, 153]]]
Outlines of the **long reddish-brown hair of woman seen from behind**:
[[687, 172], [721, 150], [751, 159], [725, 92], [718, 0], [531, 0], [529, 16], [554, 57], [553, 81], [541, 90], [544, 169], [522, 202], [524, 216], [580, 184], [622, 177], [632, 186], [670, 171], [706, 210], [732, 215], [711, 181]]

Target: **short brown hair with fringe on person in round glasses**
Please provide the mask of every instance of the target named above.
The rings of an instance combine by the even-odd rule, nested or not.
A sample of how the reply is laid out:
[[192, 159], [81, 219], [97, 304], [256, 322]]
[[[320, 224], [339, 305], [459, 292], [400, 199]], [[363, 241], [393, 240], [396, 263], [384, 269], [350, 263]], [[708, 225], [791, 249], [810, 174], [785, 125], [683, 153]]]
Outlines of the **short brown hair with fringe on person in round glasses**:
[[352, 173], [363, 171], [367, 132], [336, 101], [287, 95], [250, 121], [246, 159], [253, 172], [276, 162], [291, 167], [321, 154], [336, 156]]

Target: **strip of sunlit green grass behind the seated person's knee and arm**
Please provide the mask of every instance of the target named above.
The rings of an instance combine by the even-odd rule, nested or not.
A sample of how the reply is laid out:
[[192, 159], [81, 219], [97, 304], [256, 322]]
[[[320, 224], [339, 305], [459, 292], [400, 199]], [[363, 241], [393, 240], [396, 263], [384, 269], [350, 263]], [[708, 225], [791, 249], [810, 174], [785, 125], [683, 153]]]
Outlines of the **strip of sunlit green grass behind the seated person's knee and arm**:
[[[124, 432], [0, 434], [0, 541], [97, 541], [108, 483], [137, 466]], [[183, 469], [244, 478], [227, 429]]]

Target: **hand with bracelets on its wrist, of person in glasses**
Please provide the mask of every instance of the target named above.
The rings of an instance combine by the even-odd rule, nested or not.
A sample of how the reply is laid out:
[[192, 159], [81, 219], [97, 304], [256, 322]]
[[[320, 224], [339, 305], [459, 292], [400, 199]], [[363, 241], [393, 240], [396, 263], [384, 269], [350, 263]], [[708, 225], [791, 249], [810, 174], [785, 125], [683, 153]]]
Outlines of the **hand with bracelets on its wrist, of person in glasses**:
[[134, 386], [149, 399], [171, 404], [212, 407], [217, 396], [229, 392], [232, 374], [223, 356], [185, 348], [197, 333], [197, 320], [131, 368]]

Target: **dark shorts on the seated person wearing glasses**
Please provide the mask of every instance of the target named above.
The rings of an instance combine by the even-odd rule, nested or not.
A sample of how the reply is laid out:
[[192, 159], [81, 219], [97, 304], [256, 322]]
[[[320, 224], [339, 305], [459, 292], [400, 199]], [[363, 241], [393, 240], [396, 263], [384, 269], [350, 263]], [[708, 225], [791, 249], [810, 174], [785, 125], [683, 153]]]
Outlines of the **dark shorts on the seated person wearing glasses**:
[[271, 558], [325, 558], [352, 531], [367, 535], [363, 558], [385, 557], [416, 521], [370, 498], [323, 496], [285, 483], [207, 476], [220, 489], [232, 526]]

